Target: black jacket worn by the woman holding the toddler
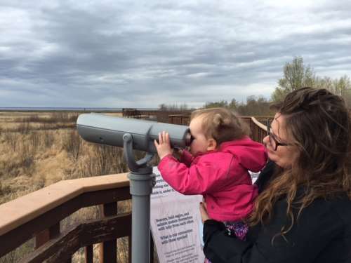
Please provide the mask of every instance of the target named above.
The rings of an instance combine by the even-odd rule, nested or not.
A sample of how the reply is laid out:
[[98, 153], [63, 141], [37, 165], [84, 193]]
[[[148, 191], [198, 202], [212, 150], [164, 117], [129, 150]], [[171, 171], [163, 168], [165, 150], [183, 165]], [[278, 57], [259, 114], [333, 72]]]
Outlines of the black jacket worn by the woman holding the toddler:
[[[272, 176], [268, 163], [257, 184], [260, 191]], [[262, 176], [265, 177], [262, 177]], [[282, 198], [274, 205], [272, 220], [251, 227], [246, 241], [229, 235], [223, 223], [204, 224], [204, 253], [212, 263], [351, 263], [351, 201], [347, 196], [326, 201], [322, 198], [304, 208], [298, 222], [284, 236], [277, 236], [284, 225], [287, 203]]]

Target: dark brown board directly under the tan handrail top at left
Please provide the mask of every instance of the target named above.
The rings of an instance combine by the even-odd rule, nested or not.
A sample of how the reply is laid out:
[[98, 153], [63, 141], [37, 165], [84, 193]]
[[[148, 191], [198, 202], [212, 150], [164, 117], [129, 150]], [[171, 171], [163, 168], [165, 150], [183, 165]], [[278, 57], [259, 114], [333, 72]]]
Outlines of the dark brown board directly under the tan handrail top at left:
[[80, 208], [131, 198], [129, 187], [84, 193], [0, 236], [0, 257]]

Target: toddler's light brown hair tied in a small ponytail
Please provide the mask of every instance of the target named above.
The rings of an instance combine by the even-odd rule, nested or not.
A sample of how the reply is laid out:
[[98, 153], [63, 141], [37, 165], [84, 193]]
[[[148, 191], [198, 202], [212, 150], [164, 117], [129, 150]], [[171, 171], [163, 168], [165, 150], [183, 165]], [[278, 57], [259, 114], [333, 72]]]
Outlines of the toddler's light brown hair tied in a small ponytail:
[[249, 127], [236, 113], [225, 108], [197, 109], [190, 120], [201, 116], [202, 129], [206, 138], [212, 137], [218, 146], [222, 142], [238, 140], [249, 135]]

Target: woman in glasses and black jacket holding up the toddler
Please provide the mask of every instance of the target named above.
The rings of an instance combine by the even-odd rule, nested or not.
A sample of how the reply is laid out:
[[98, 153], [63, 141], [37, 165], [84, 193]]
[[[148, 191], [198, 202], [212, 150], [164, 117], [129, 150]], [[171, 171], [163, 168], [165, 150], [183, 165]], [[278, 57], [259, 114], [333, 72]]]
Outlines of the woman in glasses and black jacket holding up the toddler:
[[276, 109], [246, 241], [201, 203], [204, 253], [212, 263], [350, 263], [350, 112], [342, 98], [313, 88], [289, 93]]

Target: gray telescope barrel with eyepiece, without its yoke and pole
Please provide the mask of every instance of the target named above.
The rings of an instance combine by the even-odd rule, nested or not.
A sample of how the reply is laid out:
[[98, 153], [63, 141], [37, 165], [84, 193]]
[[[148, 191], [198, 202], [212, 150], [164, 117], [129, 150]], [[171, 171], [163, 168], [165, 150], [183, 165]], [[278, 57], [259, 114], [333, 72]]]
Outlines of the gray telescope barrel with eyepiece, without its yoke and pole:
[[150, 154], [157, 153], [154, 140], [159, 140], [159, 133], [163, 130], [169, 134], [171, 147], [190, 146], [192, 138], [187, 126], [95, 113], [79, 115], [77, 130], [79, 135], [88, 142], [118, 147], [124, 147], [129, 137], [133, 142], [133, 149]]

